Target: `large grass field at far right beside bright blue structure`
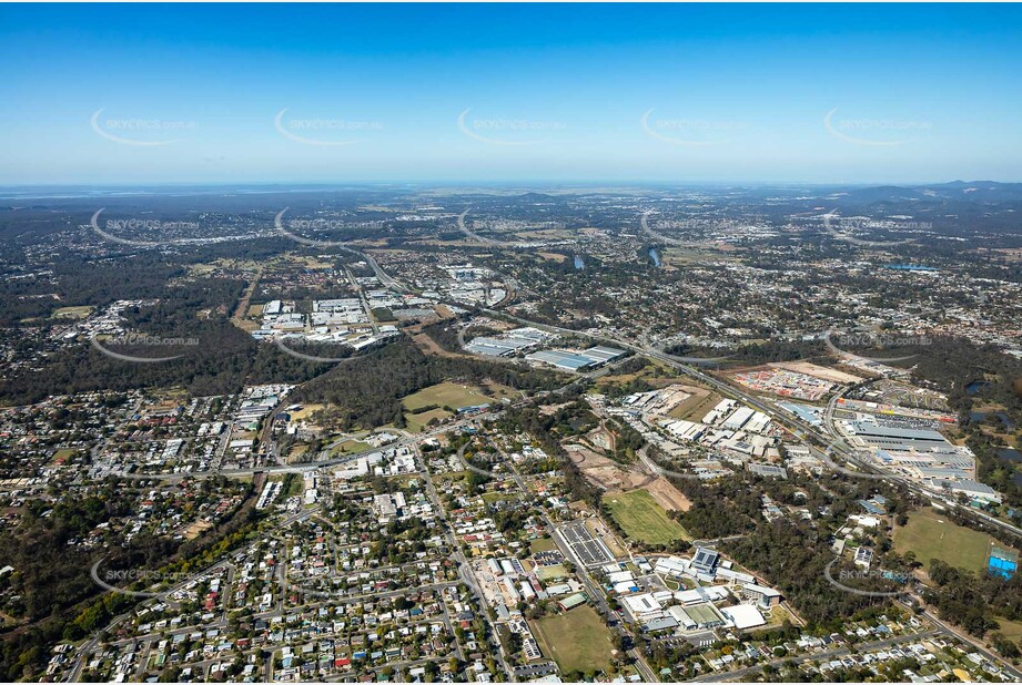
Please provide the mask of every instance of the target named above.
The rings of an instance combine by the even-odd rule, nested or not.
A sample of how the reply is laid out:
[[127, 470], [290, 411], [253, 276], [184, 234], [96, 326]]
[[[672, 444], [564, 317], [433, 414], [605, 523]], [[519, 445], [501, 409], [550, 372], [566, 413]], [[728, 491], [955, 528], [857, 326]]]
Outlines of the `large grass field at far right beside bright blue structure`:
[[909, 515], [908, 524], [894, 531], [894, 550], [908, 551], [930, 569], [931, 559], [979, 573], [986, 563], [986, 551], [993, 538], [951, 523], [931, 508]]

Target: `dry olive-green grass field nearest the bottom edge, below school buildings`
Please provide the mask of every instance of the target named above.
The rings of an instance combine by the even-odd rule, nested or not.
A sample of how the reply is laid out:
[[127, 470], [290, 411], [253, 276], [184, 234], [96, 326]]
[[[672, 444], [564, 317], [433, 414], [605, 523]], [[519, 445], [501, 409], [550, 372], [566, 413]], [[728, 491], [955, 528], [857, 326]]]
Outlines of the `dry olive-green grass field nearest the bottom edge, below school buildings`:
[[543, 655], [564, 673], [606, 671], [610, 667], [610, 628], [590, 606], [576, 606], [557, 616], [532, 622]]

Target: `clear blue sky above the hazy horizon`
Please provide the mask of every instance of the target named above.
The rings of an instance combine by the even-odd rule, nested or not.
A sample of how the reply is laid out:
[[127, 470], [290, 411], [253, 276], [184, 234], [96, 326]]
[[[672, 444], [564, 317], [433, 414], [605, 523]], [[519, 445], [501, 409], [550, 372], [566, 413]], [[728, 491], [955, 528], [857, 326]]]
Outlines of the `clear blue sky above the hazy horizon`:
[[1013, 6], [0, 6], [0, 184], [1022, 181]]

